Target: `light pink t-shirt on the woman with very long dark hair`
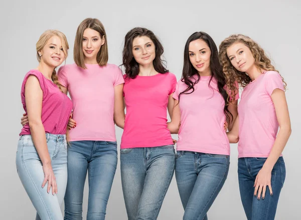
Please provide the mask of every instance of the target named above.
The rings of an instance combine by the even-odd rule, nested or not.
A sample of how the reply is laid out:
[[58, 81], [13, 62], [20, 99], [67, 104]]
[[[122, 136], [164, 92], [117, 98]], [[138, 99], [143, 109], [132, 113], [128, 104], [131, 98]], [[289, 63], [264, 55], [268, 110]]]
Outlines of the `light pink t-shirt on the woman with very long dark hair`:
[[[230, 144], [224, 130], [225, 101], [218, 91], [215, 78], [212, 78], [209, 87], [210, 78], [202, 76], [194, 85], [193, 93], [180, 96], [181, 126], [177, 151], [230, 155]], [[179, 100], [179, 94], [186, 88], [187, 85], [179, 80], [173, 98]], [[235, 100], [238, 98], [239, 94]]]

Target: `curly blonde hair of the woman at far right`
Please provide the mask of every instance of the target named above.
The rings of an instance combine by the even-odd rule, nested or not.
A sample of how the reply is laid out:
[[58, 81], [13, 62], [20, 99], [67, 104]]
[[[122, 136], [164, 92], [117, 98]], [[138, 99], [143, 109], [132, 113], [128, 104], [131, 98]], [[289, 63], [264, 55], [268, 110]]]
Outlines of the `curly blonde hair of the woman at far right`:
[[[226, 85], [231, 90], [232, 97], [234, 97], [238, 93], [238, 88], [235, 87], [235, 81], [237, 81], [238, 85], [243, 88], [251, 81], [251, 78], [245, 72], [240, 72], [232, 66], [231, 61], [227, 56], [227, 49], [235, 43], [242, 43], [250, 49], [255, 59], [255, 65], [258, 69], [266, 71], [276, 71], [277, 73], [279, 73], [279, 71], [277, 71], [271, 64], [270, 59], [266, 56], [263, 49], [255, 41], [241, 34], [230, 35], [219, 46], [219, 60], [223, 67]], [[284, 79], [281, 75], [280, 77], [282, 78], [285, 91], [286, 83], [284, 82]]]

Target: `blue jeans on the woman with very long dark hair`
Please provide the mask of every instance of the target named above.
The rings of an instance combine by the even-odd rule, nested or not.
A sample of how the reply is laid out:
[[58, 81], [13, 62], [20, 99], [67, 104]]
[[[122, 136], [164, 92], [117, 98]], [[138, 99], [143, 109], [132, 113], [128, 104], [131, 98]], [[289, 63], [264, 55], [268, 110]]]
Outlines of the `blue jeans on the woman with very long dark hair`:
[[184, 207], [183, 219], [202, 220], [228, 175], [228, 155], [177, 151], [176, 180]]

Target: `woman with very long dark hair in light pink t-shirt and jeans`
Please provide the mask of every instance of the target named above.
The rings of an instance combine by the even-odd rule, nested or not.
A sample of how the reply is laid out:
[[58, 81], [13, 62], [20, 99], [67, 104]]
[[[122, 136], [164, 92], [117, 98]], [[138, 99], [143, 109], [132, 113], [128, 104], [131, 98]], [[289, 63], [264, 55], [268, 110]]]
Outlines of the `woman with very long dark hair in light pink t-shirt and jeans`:
[[169, 129], [179, 132], [175, 173], [185, 209], [183, 219], [208, 219], [207, 212], [229, 171], [230, 144], [224, 122], [231, 130], [239, 98], [226, 87], [217, 47], [208, 34], [196, 32], [188, 38], [182, 79], [173, 97]]

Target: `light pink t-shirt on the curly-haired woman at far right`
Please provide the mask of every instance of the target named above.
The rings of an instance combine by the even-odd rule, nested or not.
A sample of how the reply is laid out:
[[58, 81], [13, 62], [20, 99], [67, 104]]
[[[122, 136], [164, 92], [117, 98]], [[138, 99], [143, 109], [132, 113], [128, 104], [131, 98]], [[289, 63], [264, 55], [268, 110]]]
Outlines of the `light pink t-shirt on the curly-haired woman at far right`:
[[284, 91], [275, 71], [261, 74], [244, 88], [238, 105], [238, 157], [268, 157], [279, 127], [271, 99], [274, 89]]

